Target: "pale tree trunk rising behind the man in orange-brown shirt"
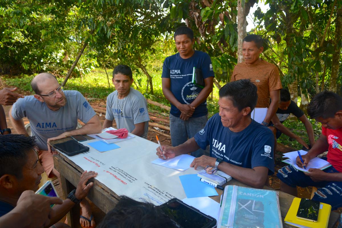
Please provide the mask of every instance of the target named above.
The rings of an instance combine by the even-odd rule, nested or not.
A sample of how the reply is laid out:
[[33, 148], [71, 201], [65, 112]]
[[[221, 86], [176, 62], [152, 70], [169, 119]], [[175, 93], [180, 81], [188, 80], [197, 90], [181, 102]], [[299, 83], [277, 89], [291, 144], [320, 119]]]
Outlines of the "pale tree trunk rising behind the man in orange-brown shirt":
[[242, 5], [242, 0], [237, 2], [237, 63], [241, 63], [244, 60], [242, 56], [242, 40], [246, 37], [247, 32], [247, 20], [246, 17], [249, 14], [249, 10], [254, 5], [255, 0], [250, 0]]

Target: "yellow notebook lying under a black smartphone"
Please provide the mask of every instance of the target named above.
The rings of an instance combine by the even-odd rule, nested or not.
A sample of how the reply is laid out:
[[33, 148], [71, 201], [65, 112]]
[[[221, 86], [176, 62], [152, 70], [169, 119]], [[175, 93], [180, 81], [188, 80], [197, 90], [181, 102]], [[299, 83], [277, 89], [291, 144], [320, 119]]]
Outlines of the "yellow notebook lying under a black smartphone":
[[317, 222], [311, 222], [296, 217], [300, 200], [301, 199], [297, 197], [293, 199], [290, 209], [285, 216], [284, 222], [291, 226], [300, 228], [327, 228], [331, 212], [331, 205], [326, 203], [320, 203], [318, 211], [318, 220]]

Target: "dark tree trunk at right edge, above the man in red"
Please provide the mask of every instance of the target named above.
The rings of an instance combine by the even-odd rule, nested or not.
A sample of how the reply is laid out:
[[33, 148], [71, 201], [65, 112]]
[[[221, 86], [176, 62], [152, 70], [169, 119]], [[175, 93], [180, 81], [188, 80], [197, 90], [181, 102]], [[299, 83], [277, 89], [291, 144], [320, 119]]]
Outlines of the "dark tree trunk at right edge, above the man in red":
[[329, 91], [337, 92], [337, 77], [340, 68], [340, 51], [341, 46], [338, 48], [338, 41], [341, 40], [342, 34], [342, 7], [337, 10], [336, 24], [335, 24], [335, 38], [334, 38], [334, 49], [335, 53], [332, 55], [331, 61], [331, 76], [329, 82]]

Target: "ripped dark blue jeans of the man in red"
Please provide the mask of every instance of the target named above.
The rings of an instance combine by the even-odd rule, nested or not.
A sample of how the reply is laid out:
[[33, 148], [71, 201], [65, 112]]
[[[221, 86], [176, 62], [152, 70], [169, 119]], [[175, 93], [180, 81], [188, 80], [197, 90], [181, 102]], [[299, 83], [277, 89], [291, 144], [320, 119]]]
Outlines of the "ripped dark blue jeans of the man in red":
[[[326, 173], [339, 173], [332, 166], [323, 171]], [[320, 187], [314, 193], [313, 200], [330, 204], [331, 210], [336, 210], [342, 206], [342, 182], [314, 182], [310, 177], [306, 176], [302, 171], [295, 169], [292, 165], [282, 167], [278, 171], [277, 177], [290, 187]]]

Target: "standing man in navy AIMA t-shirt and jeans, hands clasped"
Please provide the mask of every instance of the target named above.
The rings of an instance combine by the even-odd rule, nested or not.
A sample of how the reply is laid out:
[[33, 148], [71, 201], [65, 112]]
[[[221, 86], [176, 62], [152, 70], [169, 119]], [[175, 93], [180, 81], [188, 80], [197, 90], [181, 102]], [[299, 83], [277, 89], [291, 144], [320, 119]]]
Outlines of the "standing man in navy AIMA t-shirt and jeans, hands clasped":
[[[177, 28], [174, 41], [178, 53], [165, 59], [161, 82], [163, 94], [171, 103], [171, 143], [178, 146], [194, 137], [208, 121], [207, 97], [213, 89], [214, 71], [209, 55], [193, 49], [192, 29], [185, 26]], [[202, 71], [203, 89], [192, 83], [194, 67]], [[204, 152], [199, 149], [192, 155], [200, 157]]]

